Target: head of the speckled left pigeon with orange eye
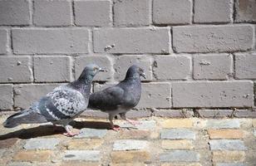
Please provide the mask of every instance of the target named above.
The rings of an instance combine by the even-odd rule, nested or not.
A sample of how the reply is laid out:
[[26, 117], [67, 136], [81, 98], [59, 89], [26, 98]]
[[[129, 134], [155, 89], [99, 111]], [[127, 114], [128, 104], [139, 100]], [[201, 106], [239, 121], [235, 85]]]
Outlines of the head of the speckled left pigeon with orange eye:
[[90, 64], [84, 68], [79, 76], [78, 80], [92, 80], [94, 76], [100, 71], [106, 71], [101, 67], [97, 66], [96, 64]]

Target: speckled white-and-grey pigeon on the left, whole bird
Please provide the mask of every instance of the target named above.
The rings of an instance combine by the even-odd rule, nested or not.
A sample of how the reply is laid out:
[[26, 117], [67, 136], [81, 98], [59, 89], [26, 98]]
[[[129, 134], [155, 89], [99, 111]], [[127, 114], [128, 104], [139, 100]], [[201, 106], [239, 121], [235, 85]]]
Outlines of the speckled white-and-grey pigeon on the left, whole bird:
[[76, 81], [60, 85], [52, 92], [34, 102], [27, 110], [11, 115], [3, 123], [6, 128], [21, 124], [39, 124], [52, 122], [66, 129], [66, 136], [74, 136], [70, 125], [73, 119], [86, 110], [91, 90], [91, 82], [99, 71], [105, 71], [94, 64], [88, 65]]

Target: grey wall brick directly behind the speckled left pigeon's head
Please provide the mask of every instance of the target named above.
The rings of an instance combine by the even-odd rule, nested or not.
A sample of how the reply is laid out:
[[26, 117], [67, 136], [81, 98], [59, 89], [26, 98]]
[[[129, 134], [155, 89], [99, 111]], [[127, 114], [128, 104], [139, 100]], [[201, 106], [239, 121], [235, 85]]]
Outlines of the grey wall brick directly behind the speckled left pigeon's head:
[[85, 68], [86, 65], [95, 63], [101, 68], [105, 68], [106, 72], [100, 72], [94, 77], [94, 81], [110, 81], [113, 75], [112, 62], [111, 58], [108, 56], [79, 56], [76, 57], [75, 61], [75, 71], [76, 78], [81, 75], [81, 71]]

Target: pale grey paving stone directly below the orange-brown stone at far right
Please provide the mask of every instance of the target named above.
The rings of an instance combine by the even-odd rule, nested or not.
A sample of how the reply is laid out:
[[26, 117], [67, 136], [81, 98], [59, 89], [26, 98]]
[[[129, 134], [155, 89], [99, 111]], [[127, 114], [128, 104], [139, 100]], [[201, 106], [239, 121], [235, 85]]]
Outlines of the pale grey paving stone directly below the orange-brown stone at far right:
[[246, 150], [244, 141], [232, 139], [216, 139], [209, 141], [211, 150]]

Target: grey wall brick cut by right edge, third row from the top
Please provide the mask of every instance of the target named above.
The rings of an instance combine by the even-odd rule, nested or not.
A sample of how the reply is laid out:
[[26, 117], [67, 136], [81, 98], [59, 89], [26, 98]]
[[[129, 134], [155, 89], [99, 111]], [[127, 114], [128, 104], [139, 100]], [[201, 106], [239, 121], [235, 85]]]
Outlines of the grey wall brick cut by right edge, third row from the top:
[[235, 54], [235, 77], [256, 79], [256, 52]]

